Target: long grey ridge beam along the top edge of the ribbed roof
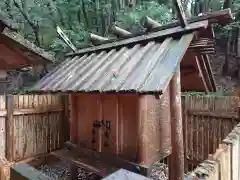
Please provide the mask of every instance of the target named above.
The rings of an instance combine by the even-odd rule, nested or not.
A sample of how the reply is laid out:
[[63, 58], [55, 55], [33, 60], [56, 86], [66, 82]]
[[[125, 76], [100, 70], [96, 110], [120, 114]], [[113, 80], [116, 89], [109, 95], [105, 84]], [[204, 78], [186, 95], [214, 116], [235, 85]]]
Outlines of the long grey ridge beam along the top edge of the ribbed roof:
[[132, 37], [132, 38], [128, 38], [128, 39], [124, 39], [124, 40], [120, 40], [120, 41], [116, 41], [116, 42], [111, 42], [111, 43], [107, 43], [107, 44], [102, 44], [100, 46], [97, 47], [89, 47], [89, 48], [85, 48], [82, 50], [79, 50], [77, 53], [69, 53], [66, 56], [75, 56], [75, 55], [80, 55], [83, 53], [92, 53], [92, 52], [97, 52], [97, 51], [102, 51], [102, 50], [108, 50], [108, 49], [112, 49], [112, 48], [119, 48], [122, 46], [128, 46], [128, 45], [133, 45], [136, 43], [141, 43], [143, 41], [150, 41], [150, 40], [154, 40], [154, 39], [165, 39], [167, 37], [172, 37], [174, 35], [183, 35], [186, 33], [190, 33], [199, 29], [205, 29], [208, 26], [208, 21], [201, 21], [201, 22], [196, 22], [193, 24], [189, 24], [187, 28], [182, 28], [182, 27], [174, 27], [171, 29], [166, 29], [163, 31], [158, 31], [158, 32], [152, 32], [149, 33], [147, 35], [141, 35], [141, 36], [137, 36], [137, 37]]

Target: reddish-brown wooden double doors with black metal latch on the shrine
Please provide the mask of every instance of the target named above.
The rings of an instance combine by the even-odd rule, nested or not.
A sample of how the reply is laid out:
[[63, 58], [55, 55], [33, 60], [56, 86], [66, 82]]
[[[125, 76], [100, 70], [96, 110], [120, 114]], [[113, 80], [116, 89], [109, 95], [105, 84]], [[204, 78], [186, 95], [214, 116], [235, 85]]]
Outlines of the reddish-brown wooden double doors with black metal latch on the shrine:
[[136, 96], [79, 94], [76, 100], [80, 146], [136, 159]]

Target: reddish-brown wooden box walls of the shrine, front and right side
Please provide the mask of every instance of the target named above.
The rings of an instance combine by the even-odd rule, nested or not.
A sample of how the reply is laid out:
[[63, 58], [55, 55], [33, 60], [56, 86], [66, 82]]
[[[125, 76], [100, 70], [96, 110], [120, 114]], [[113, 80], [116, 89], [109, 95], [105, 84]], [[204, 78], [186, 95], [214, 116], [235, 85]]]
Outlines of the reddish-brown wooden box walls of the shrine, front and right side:
[[[81, 147], [151, 164], [170, 150], [169, 92], [160, 98], [138, 95], [73, 94], [72, 141]], [[104, 120], [93, 128], [95, 120]], [[110, 129], [106, 128], [107, 121]], [[163, 141], [159, 141], [162, 139]]]

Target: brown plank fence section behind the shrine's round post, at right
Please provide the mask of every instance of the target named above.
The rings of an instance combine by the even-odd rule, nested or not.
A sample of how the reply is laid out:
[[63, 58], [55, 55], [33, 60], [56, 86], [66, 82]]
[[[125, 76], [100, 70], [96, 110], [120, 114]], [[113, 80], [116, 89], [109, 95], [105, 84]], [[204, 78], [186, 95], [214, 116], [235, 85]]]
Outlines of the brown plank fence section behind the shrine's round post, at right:
[[185, 170], [213, 154], [239, 122], [239, 97], [183, 96]]

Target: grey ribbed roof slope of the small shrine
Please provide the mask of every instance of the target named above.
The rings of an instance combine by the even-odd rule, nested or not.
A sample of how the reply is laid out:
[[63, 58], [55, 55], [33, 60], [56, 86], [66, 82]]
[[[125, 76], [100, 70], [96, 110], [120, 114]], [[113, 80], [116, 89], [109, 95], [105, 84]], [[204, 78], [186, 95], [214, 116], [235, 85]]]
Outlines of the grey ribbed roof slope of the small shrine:
[[66, 59], [31, 91], [161, 93], [193, 34]]

